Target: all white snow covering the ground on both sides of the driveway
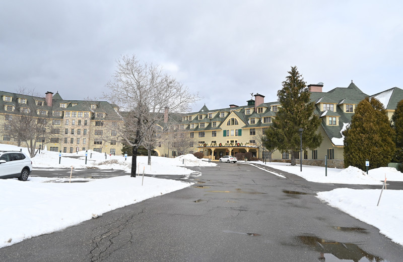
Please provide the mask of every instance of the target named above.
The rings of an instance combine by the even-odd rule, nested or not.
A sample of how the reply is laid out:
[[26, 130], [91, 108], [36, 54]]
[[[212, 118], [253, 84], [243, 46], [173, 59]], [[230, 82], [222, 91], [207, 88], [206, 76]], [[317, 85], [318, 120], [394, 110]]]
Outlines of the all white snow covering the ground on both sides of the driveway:
[[[19, 150], [17, 147], [0, 144], [0, 150]], [[26, 151], [26, 149], [23, 149]], [[80, 156], [68, 158], [68, 156]], [[33, 166], [120, 169], [130, 171], [131, 158], [106, 156], [92, 152], [87, 157], [85, 152], [78, 154], [62, 153], [61, 163], [57, 152], [44, 151], [32, 158]], [[175, 159], [153, 157], [151, 167], [147, 157], [138, 157], [139, 170], [146, 174], [189, 175], [194, 171], [186, 166], [215, 166], [215, 163], [200, 161], [192, 155]], [[248, 162], [253, 163], [253, 162]], [[258, 162], [262, 163], [262, 162]], [[375, 184], [379, 189], [355, 190], [348, 188], [319, 192], [318, 198], [329, 205], [343, 210], [368, 224], [379, 228], [381, 233], [394, 242], [403, 245], [403, 207], [399, 205], [403, 190], [384, 190], [379, 207], [377, 202], [382, 188], [382, 181], [403, 181], [403, 174], [393, 168], [377, 168], [369, 175], [361, 170], [328, 168], [325, 176], [324, 167], [290, 166], [286, 163], [267, 163], [268, 166], [299, 175], [309, 181], [319, 183]], [[279, 175], [270, 172], [273, 175]], [[279, 175], [282, 177], [281, 175]], [[67, 179], [29, 177], [27, 182], [17, 179], [0, 179], [0, 247], [12, 245], [32, 236], [53, 232], [113, 209], [134, 204], [148, 198], [172, 192], [190, 185], [181, 181], [144, 177], [130, 178], [120, 176], [105, 179], [88, 179], [85, 183], [64, 183]], [[72, 179], [74, 181], [74, 178]], [[83, 179], [80, 179], [83, 180]], [[381, 181], [382, 180], [382, 181]], [[135, 190], [133, 190], [133, 188]], [[84, 200], [84, 201], [83, 201]], [[26, 223], [29, 221], [29, 223]], [[10, 226], [18, 225], [18, 226]], [[399, 234], [400, 233], [400, 234]]]

